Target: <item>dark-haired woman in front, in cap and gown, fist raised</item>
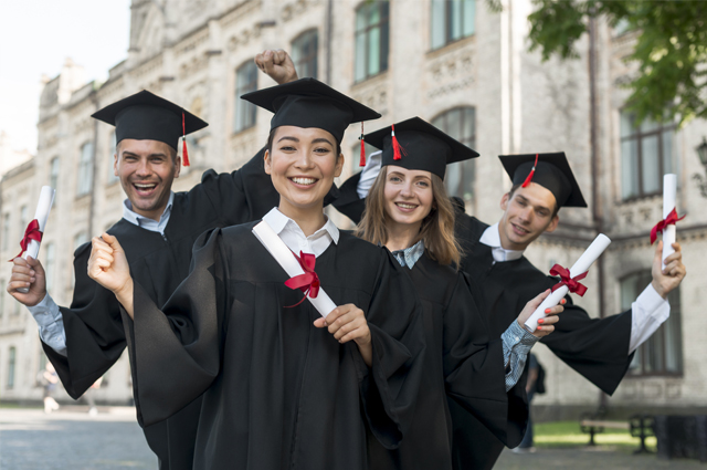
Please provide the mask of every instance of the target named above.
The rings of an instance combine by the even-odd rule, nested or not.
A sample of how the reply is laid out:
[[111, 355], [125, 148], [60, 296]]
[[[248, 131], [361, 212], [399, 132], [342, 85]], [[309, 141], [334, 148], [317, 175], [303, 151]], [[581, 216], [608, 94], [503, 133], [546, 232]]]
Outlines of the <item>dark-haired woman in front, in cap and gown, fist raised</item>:
[[313, 79], [244, 98], [275, 112], [265, 168], [281, 199], [263, 222], [299, 252], [305, 295], [339, 306], [325, 320], [302, 302], [255, 223], [204, 233], [161, 311], [108, 234], [94, 239], [89, 274], [134, 318], [144, 421], [203, 394], [194, 468], [363, 469], [367, 427], [387, 448], [409, 428], [425, 349], [409, 276], [323, 213], [345, 128], [379, 115]]

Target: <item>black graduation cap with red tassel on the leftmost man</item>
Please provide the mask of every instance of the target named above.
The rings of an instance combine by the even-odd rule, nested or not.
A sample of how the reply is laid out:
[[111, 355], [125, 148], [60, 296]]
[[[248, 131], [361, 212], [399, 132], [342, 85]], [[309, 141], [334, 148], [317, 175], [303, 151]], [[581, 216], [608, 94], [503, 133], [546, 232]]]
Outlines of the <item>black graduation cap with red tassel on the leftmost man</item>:
[[116, 143], [126, 138], [158, 140], [177, 150], [179, 137], [182, 137], [184, 166], [189, 166], [187, 135], [209, 125], [183, 107], [147, 90], [109, 104], [91, 117], [115, 126]]

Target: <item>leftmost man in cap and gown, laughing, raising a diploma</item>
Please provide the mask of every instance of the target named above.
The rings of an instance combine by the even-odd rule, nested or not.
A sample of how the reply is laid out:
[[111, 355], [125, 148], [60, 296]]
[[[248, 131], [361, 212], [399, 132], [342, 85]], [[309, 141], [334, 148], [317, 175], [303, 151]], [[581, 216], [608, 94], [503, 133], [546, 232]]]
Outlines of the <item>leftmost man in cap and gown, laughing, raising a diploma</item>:
[[[120, 240], [133, 275], [159, 305], [187, 276], [199, 234], [258, 219], [277, 203], [262, 153], [236, 171], [208, 170], [190, 191], [172, 192], [181, 169], [179, 139], [207, 123], [167, 100], [143, 91], [93, 117], [116, 126], [115, 171], [127, 195], [123, 219], [108, 232]], [[57, 306], [49, 295], [38, 260], [15, 259], [8, 286], [38, 321], [44, 352], [74, 399], [113, 366], [126, 346], [115, 295], [86, 274], [89, 254], [91, 243], [74, 253], [71, 306]], [[28, 285], [29, 293], [18, 291]], [[136, 405], [140, 406], [137, 395]], [[167, 421], [145, 427], [161, 469], [191, 469], [199, 409], [197, 401]]]

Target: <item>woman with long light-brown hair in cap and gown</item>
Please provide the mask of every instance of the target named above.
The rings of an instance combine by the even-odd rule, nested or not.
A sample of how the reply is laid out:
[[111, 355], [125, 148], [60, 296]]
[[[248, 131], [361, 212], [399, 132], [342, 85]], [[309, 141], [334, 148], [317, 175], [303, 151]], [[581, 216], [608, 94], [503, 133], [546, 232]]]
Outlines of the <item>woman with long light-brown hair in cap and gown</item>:
[[366, 142], [382, 148], [382, 169], [356, 233], [392, 250], [410, 275], [423, 304], [428, 345], [411, 430], [397, 450], [370, 439], [370, 467], [452, 469], [447, 397], [515, 447], [525, 432], [528, 405], [507, 391], [520, 377], [530, 347], [558, 317], [544, 318], [537, 336], [520, 325], [547, 293], [528, 302], [518, 321], [492, 341], [476, 307], [478, 288], [451, 267], [458, 264], [461, 252], [443, 184], [447, 164], [478, 154], [419, 117], [368, 134]]

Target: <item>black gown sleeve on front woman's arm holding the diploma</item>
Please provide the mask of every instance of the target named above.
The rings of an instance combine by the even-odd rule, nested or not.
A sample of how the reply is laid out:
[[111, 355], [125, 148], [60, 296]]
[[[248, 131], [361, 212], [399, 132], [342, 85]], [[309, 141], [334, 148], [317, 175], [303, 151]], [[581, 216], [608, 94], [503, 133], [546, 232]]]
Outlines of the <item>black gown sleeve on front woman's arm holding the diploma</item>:
[[425, 342], [422, 306], [410, 276], [386, 249], [366, 318], [373, 346], [372, 366], [358, 357], [363, 412], [369, 429], [387, 449], [409, 429], [420, 389]]

